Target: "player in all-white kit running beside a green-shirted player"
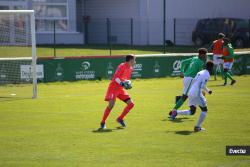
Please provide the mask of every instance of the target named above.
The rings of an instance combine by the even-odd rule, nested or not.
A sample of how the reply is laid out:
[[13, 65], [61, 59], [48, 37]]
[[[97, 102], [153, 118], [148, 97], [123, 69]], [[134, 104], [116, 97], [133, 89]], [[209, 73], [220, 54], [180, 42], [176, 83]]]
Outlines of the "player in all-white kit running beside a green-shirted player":
[[205, 93], [203, 91], [212, 94], [212, 91], [209, 90], [206, 85], [210, 79], [210, 74], [213, 71], [213, 66], [214, 66], [213, 62], [211, 61], [207, 62], [206, 69], [198, 72], [197, 75], [195, 76], [191, 89], [188, 93], [190, 109], [177, 110], [171, 115], [172, 119], [175, 119], [177, 115], [194, 115], [196, 112], [196, 106], [199, 105], [201, 109], [201, 114], [198, 122], [194, 127], [195, 132], [204, 130], [203, 128], [201, 128], [201, 124], [204, 121], [208, 110], [207, 110], [207, 101], [204, 96]]

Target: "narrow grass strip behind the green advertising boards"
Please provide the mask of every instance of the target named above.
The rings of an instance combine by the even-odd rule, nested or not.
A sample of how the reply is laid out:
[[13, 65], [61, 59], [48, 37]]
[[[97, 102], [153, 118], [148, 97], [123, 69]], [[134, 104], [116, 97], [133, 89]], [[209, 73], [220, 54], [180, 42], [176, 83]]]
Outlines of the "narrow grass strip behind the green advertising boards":
[[[206, 46], [209, 47], [209, 46]], [[171, 46], [166, 48], [166, 53], [195, 53], [198, 47], [195, 46]], [[41, 57], [53, 57], [54, 46], [37, 46], [36, 55]], [[235, 49], [235, 52], [250, 51], [250, 48]], [[162, 54], [162, 46], [133, 46], [114, 45], [112, 55], [126, 54]], [[56, 57], [71, 56], [109, 56], [110, 51], [107, 45], [56, 45]], [[0, 58], [10, 57], [31, 57], [30, 48], [27, 47], [1, 47]]]

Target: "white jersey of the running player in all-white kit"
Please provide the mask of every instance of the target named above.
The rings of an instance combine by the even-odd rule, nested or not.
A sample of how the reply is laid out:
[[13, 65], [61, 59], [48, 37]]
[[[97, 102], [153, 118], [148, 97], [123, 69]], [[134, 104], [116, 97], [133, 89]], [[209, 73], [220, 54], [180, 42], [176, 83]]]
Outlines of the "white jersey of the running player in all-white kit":
[[202, 70], [198, 72], [192, 82], [192, 86], [188, 93], [188, 96], [192, 97], [202, 96], [202, 90], [208, 92], [209, 89], [207, 88], [206, 85], [209, 79], [210, 79], [210, 74], [208, 70]]

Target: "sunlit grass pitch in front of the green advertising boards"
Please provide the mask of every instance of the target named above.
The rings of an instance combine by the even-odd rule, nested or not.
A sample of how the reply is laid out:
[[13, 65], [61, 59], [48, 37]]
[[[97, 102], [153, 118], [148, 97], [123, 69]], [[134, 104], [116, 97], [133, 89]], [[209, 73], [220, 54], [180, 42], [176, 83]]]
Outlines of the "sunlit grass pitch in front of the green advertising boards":
[[[117, 100], [107, 132], [96, 131], [107, 80], [39, 84], [36, 100], [22, 97], [27, 87], [17, 87], [16, 97], [0, 94], [0, 166], [250, 166], [250, 156], [225, 155], [227, 145], [250, 144], [250, 76], [236, 79], [234, 86], [208, 83], [213, 94], [206, 96], [206, 131], [199, 133], [193, 133], [199, 109], [173, 122], [167, 118], [182, 89], [179, 78], [133, 80], [128, 127], [117, 128], [124, 107]], [[14, 89], [0, 87], [0, 93], [8, 90]]]

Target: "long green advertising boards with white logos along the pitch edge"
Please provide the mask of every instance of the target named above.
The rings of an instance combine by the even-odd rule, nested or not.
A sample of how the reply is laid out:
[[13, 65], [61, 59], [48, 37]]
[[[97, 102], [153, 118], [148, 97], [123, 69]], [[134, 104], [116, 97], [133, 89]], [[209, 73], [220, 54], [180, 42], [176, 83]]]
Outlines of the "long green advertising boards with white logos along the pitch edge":
[[[136, 56], [132, 78], [179, 76], [180, 63], [192, 54]], [[211, 55], [210, 55], [211, 58]], [[37, 60], [39, 82], [111, 79], [124, 56], [46, 58]], [[0, 84], [30, 83], [31, 59], [0, 59]], [[250, 52], [237, 53], [235, 75], [250, 74]]]

